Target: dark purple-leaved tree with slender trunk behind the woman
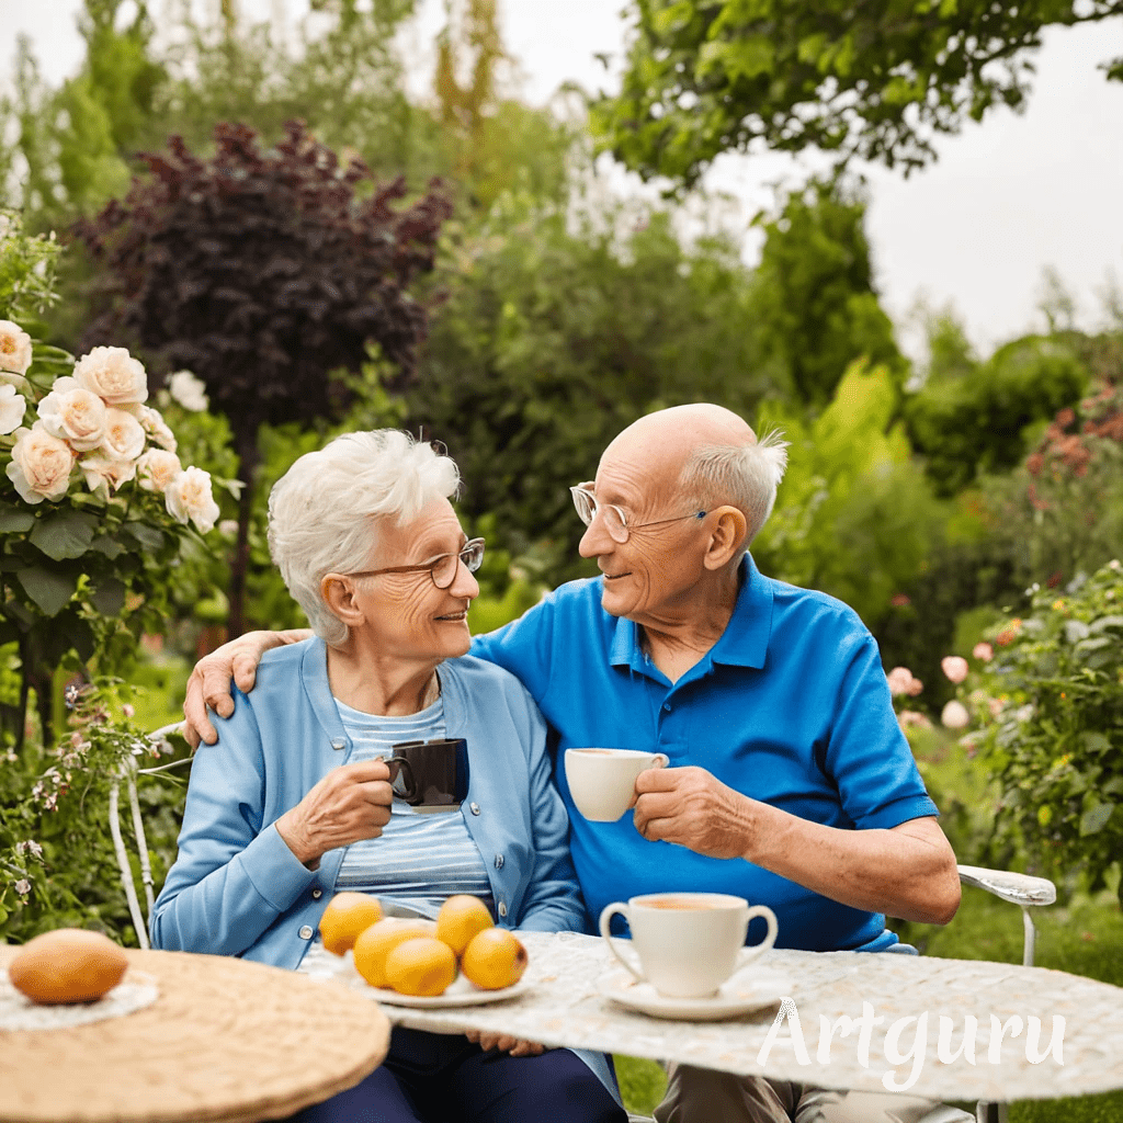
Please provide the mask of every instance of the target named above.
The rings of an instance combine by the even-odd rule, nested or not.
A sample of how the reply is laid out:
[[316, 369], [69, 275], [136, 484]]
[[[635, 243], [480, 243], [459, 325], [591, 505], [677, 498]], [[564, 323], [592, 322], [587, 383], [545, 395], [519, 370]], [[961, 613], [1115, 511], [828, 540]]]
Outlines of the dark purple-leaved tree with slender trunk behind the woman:
[[369, 170], [340, 167], [301, 122], [273, 150], [240, 125], [220, 125], [214, 141], [210, 159], [179, 137], [146, 154], [150, 177], [77, 232], [104, 265], [109, 302], [85, 341], [131, 334], [154, 367], [194, 371], [230, 422], [247, 485], [230, 583], [237, 634], [258, 429], [337, 417], [353, 390], [332, 372], [359, 372], [372, 345], [409, 381], [428, 323], [410, 287], [432, 268], [450, 207], [432, 184], [395, 210], [400, 179], [356, 198]]

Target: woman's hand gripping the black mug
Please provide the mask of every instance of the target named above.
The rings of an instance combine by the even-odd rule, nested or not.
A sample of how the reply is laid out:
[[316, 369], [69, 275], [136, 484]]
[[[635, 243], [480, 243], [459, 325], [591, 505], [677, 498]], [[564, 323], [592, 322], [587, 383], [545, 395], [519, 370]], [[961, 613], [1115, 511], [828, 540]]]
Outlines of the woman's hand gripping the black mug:
[[276, 829], [300, 861], [314, 869], [320, 857], [360, 839], [376, 839], [390, 822], [394, 791], [384, 760], [332, 768]]

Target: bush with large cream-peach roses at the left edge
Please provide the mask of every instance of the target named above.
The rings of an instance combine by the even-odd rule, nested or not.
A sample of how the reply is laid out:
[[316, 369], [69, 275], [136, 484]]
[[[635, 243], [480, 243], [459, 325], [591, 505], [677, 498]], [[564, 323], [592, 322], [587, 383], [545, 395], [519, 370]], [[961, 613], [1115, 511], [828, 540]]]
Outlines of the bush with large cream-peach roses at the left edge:
[[16, 646], [24, 679], [15, 705], [0, 700], [0, 751], [22, 745], [28, 683], [43, 712], [60, 666], [104, 674], [163, 630], [183, 551], [209, 554], [202, 536], [220, 517], [209, 474], [181, 463], [149, 404], [139, 359], [112, 346], [75, 359], [42, 341], [35, 310], [52, 299], [56, 253], [18, 223], [0, 238], [0, 654]]

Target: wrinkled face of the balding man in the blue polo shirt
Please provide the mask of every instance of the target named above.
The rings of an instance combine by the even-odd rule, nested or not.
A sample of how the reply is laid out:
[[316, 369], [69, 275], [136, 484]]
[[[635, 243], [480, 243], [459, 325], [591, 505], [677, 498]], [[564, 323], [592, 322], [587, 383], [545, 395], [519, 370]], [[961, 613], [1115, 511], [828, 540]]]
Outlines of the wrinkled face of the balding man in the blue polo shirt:
[[[649, 448], [614, 441], [596, 469], [590, 491], [599, 505], [619, 506], [630, 528], [691, 513], [676, 494], [679, 463], [652, 457]], [[702, 576], [705, 536], [695, 519], [631, 529], [617, 542], [597, 512], [581, 540], [582, 557], [596, 558], [604, 574], [601, 606], [614, 617], [655, 623], [675, 614]]]

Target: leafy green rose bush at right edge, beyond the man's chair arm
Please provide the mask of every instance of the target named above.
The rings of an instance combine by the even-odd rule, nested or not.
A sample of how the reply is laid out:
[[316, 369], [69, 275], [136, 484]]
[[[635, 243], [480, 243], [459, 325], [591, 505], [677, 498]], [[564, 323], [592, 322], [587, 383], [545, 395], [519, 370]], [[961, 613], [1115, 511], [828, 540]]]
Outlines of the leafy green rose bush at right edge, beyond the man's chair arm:
[[[1123, 853], [1123, 567], [1038, 591], [989, 633], [995, 657], [960, 694], [1001, 785], [999, 841], [1031, 866], [1105, 884]], [[993, 705], [992, 700], [1002, 703]]]

